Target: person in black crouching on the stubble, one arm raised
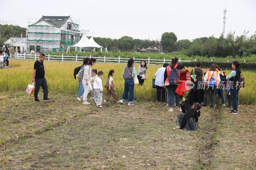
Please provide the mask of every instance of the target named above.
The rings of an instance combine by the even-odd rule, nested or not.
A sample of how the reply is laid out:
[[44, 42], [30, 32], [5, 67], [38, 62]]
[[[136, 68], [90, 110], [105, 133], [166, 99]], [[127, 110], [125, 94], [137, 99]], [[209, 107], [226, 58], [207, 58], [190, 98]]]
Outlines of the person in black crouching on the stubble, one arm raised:
[[199, 126], [197, 124], [198, 117], [200, 116], [200, 108], [201, 105], [199, 103], [195, 103], [193, 107], [189, 107], [187, 102], [185, 102], [185, 98], [182, 98], [183, 105], [186, 107], [186, 113], [180, 113], [176, 116], [176, 128], [185, 129], [185, 130], [199, 130]]

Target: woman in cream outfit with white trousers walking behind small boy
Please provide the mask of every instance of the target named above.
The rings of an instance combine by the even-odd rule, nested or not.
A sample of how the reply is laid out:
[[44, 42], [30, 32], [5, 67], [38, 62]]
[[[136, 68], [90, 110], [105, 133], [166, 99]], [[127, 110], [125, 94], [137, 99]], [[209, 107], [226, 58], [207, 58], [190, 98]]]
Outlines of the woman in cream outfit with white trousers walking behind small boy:
[[89, 92], [92, 91], [92, 85], [90, 83], [90, 79], [92, 77], [92, 66], [96, 63], [95, 58], [90, 58], [89, 62], [84, 66], [84, 74], [83, 74], [83, 86], [84, 86], [84, 95], [83, 95], [83, 104], [88, 105], [90, 104], [87, 101], [87, 95]]

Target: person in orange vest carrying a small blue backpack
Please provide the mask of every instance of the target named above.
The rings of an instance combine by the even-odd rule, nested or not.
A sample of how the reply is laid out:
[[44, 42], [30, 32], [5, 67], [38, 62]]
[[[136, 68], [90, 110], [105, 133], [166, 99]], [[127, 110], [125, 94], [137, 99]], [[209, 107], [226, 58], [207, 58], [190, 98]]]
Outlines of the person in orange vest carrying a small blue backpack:
[[208, 70], [204, 76], [204, 83], [205, 83], [205, 97], [204, 97], [204, 105], [208, 105], [208, 98], [209, 94], [212, 91], [211, 94], [211, 104], [210, 107], [213, 107], [214, 98], [215, 98], [215, 92], [216, 89], [219, 86], [220, 83], [220, 74], [216, 70], [216, 67], [214, 64], [210, 66], [210, 70]]

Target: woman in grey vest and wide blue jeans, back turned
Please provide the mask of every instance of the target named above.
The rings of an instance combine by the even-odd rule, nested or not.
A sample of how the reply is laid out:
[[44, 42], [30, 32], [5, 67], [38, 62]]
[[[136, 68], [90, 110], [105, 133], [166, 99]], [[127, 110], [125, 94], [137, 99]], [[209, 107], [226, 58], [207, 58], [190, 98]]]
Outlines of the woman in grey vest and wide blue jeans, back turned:
[[[124, 101], [128, 101], [128, 105], [133, 105], [134, 103], [134, 81], [133, 77], [136, 77], [136, 70], [135, 67], [133, 67], [134, 60], [130, 58], [128, 60], [127, 66], [124, 67], [123, 75], [124, 78], [124, 93], [122, 97], [121, 103], [124, 103]], [[129, 93], [129, 99], [128, 99], [128, 93]]]

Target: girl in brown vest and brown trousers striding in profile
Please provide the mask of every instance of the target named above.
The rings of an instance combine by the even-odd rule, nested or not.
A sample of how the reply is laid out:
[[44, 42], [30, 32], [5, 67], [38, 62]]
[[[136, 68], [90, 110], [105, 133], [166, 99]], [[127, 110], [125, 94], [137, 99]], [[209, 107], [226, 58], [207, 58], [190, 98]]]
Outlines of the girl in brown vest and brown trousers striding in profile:
[[113, 82], [113, 76], [115, 74], [114, 70], [109, 70], [108, 77], [106, 78], [106, 84], [104, 87], [107, 88], [106, 93], [105, 93], [105, 100], [103, 102], [108, 103], [108, 100], [110, 96], [112, 95], [115, 102], [120, 103], [122, 100], [118, 98], [117, 92], [115, 90], [115, 85]]

